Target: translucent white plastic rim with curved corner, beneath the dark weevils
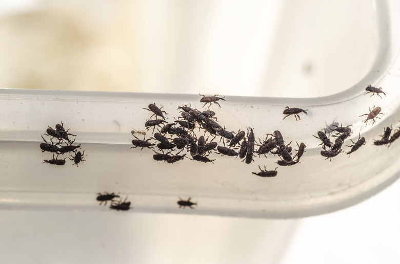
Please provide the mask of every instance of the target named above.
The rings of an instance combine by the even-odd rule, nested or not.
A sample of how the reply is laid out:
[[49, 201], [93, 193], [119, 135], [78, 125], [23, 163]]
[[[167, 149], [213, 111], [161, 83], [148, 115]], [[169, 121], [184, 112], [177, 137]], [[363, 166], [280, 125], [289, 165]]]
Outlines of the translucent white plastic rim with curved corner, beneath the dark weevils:
[[[388, 8], [397, 12], [398, 5], [393, 3]], [[378, 10], [381, 15], [387, 11]], [[307, 148], [301, 163], [290, 167], [277, 166], [278, 157], [272, 155], [255, 157], [248, 165], [216, 153], [209, 156], [216, 159], [214, 164], [188, 159], [167, 164], [154, 161], [150, 149], [130, 149], [130, 131], [144, 129], [151, 116], [143, 107], [153, 102], [164, 105], [168, 121], [173, 121], [179, 115], [178, 106], [202, 108], [198, 95], [3, 89], [0, 208], [107, 210], [95, 201], [96, 193], [103, 191], [128, 195], [132, 211], [248, 217], [301, 217], [361, 202], [396, 180], [400, 170], [400, 142], [389, 148], [372, 144], [384, 127], [400, 125], [396, 15], [388, 13], [388, 21], [381, 25], [381, 53], [370, 74], [346, 92], [313, 99], [226, 97], [221, 108], [211, 107], [227, 130], [253, 127], [256, 139], [279, 130], [286, 142], [293, 141], [292, 146], [295, 141], [304, 142]], [[368, 84], [382, 87], [387, 96], [364, 95]], [[293, 116], [282, 120], [285, 106], [308, 109], [308, 115], [301, 114], [300, 121]], [[373, 106], [382, 108], [382, 118], [364, 123], [365, 116], [359, 116]], [[61, 121], [85, 149], [86, 161], [79, 168], [71, 163], [42, 164], [51, 155], [40, 151], [41, 135], [48, 125]], [[325, 160], [319, 153], [319, 139], [312, 135], [333, 122], [352, 125], [353, 134], [345, 145], [357, 140], [358, 133], [367, 144], [350, 157], [341, 153], [331, 162]], [[252, 175], [258, 165], [278, 167], [277, 176]], [[178, 196], [192, 197], [198, 208], [179, 209]]]

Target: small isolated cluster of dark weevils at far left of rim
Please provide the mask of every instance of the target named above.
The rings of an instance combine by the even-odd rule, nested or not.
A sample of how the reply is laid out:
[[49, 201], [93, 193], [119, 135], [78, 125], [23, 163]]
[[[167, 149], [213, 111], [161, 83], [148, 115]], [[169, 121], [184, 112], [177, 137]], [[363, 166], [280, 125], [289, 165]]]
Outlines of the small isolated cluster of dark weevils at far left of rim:
[[[61, 122], [61, 124], [56, 124], [55, 125], [55, 129], [51, 128], [50, 126], [48, 126], [46, 132], [47, 134], [44, 134], [45, 136], [50, 136], [50, 141], [51, 144], [49, 144], [42, 136], [42, 139], [46, 142], [46, 143], [41, 143], [40, 144], [40, 148], [42, 149], [42, 152], [48, 151], [48, 152], [53, 152], [53, 159], [51, 160], [44, 160], [43, 163], [49, 163], [52, 165], [65, 165], [65, 160], [68, 158], [64, 158], [64, 159], [58, 159], [58, 155], [64, 155], [65, 153], [70, 153], [73, 152], [75, 154], [75, 156], [71, 156], [70, 159], [71, 161], [73, 161], [74, 163], [72, 165], [75, 165], [78, 167], [78, 163], [81, 161], [85, 161], [84, 158], [84, 153], [85, 150], [83, 151], [83, 153], [81, 153], [81, 151], [77, 151], [77, 148], [81, 148], [81, 144], [78, 145], [72, 145], [75, 142], [75, 139], [73, 141], [71, 141], [68, 136], [73, 136], [76, 137], [76, 135], [72, 135], [70, 133], [68, 133], [68, 130], [64, 129], [64, 124], [63, 122]], [[53, 142], [53, 138], [56, 138], [58, 140], [57, 143], [54, 144]], [[66, 143], [66, 145], [61, 145], [62, 143]], [[57, 154], [57, 157], [54, 158], [54, 153]]]

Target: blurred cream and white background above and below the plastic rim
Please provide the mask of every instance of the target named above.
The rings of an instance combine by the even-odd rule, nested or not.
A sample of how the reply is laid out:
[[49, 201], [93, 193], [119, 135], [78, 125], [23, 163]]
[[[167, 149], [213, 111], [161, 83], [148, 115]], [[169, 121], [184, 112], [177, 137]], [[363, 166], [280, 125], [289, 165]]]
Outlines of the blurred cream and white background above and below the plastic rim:
[[[309, 98], [379, 49], [374, 1], [0, 2], [0, 86]], [[304, 219], [0, 211], [1, 263], [398, 263], [400, 184]]]

